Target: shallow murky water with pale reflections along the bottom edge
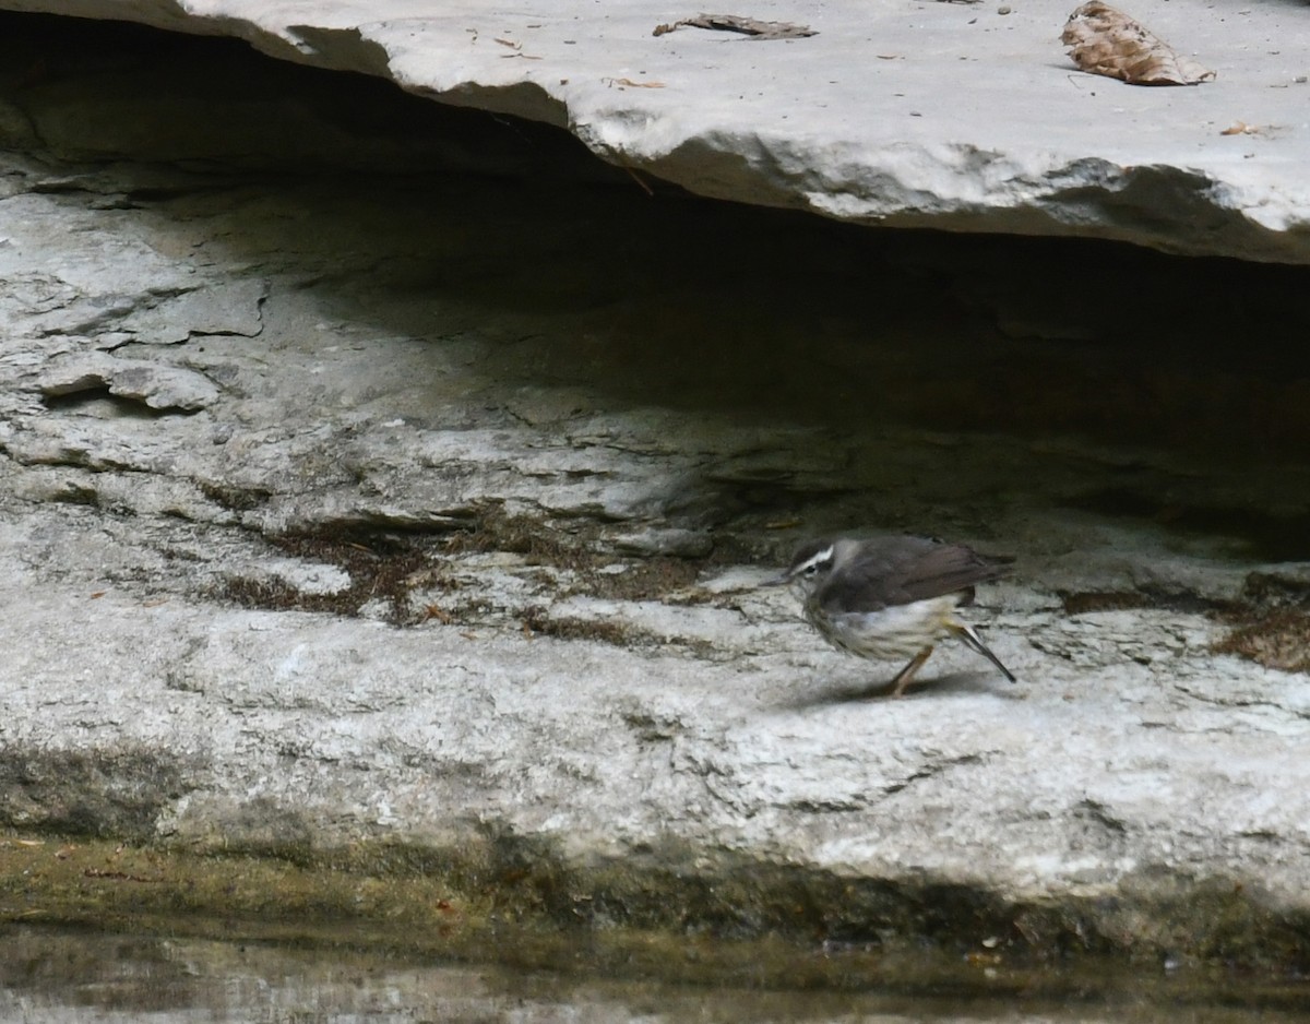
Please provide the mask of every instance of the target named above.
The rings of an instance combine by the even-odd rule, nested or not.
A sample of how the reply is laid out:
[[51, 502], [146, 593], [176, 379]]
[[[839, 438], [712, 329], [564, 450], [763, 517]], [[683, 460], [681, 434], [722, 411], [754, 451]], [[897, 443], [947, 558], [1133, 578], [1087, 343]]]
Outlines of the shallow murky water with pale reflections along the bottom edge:
[[339, 949], [0, 926], [0, 1021], [1052, 1021], [1292, 1024], [1268, 1010], [778, 993], [426, 966]]

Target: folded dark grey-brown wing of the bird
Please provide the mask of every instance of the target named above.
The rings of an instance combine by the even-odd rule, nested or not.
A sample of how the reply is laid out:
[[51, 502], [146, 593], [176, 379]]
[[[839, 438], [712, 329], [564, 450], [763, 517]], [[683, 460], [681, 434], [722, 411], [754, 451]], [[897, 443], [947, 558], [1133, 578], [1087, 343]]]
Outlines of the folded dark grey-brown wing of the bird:
[[878, 612], [950, 593], [968, 594], [975, 584], [1003, 575], [1006, 567], [964, 545], [893, 537], [866, 547], [838, 570], [815, 593], [829, 613]]

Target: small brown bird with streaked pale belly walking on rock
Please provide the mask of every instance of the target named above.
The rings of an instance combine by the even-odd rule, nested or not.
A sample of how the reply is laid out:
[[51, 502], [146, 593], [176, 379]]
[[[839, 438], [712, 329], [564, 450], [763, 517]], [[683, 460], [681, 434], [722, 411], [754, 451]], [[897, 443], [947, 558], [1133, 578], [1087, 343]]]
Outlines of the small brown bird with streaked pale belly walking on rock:
[[866, 659], [908, 657], [891, 681], [892, 695], [901, 697], [947, 638], [962, 640], [1015, 682], [973, 627], [955, 615], [973, 602], [977, 584], [1005, 575], [1009, 560], [935, 538], [825, 537], [802, 543], [786, 571], [769, 583], [798, 589], [804, 617], [833, 647]]

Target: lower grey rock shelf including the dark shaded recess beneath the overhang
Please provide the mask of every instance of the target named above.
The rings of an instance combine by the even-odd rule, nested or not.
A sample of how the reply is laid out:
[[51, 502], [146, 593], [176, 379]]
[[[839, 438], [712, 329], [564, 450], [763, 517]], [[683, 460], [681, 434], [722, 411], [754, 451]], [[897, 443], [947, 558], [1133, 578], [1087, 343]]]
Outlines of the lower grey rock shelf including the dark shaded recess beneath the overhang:
[[[67, 143], [136, 89], [157, 128], [138, 62], [214, 52], [121, 42], [8, 109]], [[178, 118], [214, 126], [200, 166], [4, 155], [0, 818], [494, 830], [652, 885], [756, 864], [1303, 955], [1310, 690], [1212, 648], [1306, 621], [1303, 271], [255, 172], [229, 115]], [[1107, 320], [1089, 278], [1149, 301]], [[1015, 554], [975, 614], [1022, 682], [943, 648], [870, 699], [895, 665], [753, 585], [852, 526]], [[1246, 917], [1182, 914], [1216, 887]]]

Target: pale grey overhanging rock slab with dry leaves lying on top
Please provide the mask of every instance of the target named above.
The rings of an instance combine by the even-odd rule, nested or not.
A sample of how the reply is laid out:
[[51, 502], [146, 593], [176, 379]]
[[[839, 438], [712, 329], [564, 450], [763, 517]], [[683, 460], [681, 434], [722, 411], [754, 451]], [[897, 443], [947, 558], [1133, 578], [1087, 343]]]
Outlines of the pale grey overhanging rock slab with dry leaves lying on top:
[[1078, 72], [1077, 7], [761, 0], [816, 35], [752, 41], [662, 24], [652, 0], [464, 3], [4, 0], [246, 39], [447, 103], [567, 127], [693, 192], [858, 223], [1120, 238], [1305, 263], [1306, 12], [1138, 0], [1128, 13], [1217, 79], [1134, 88]]

